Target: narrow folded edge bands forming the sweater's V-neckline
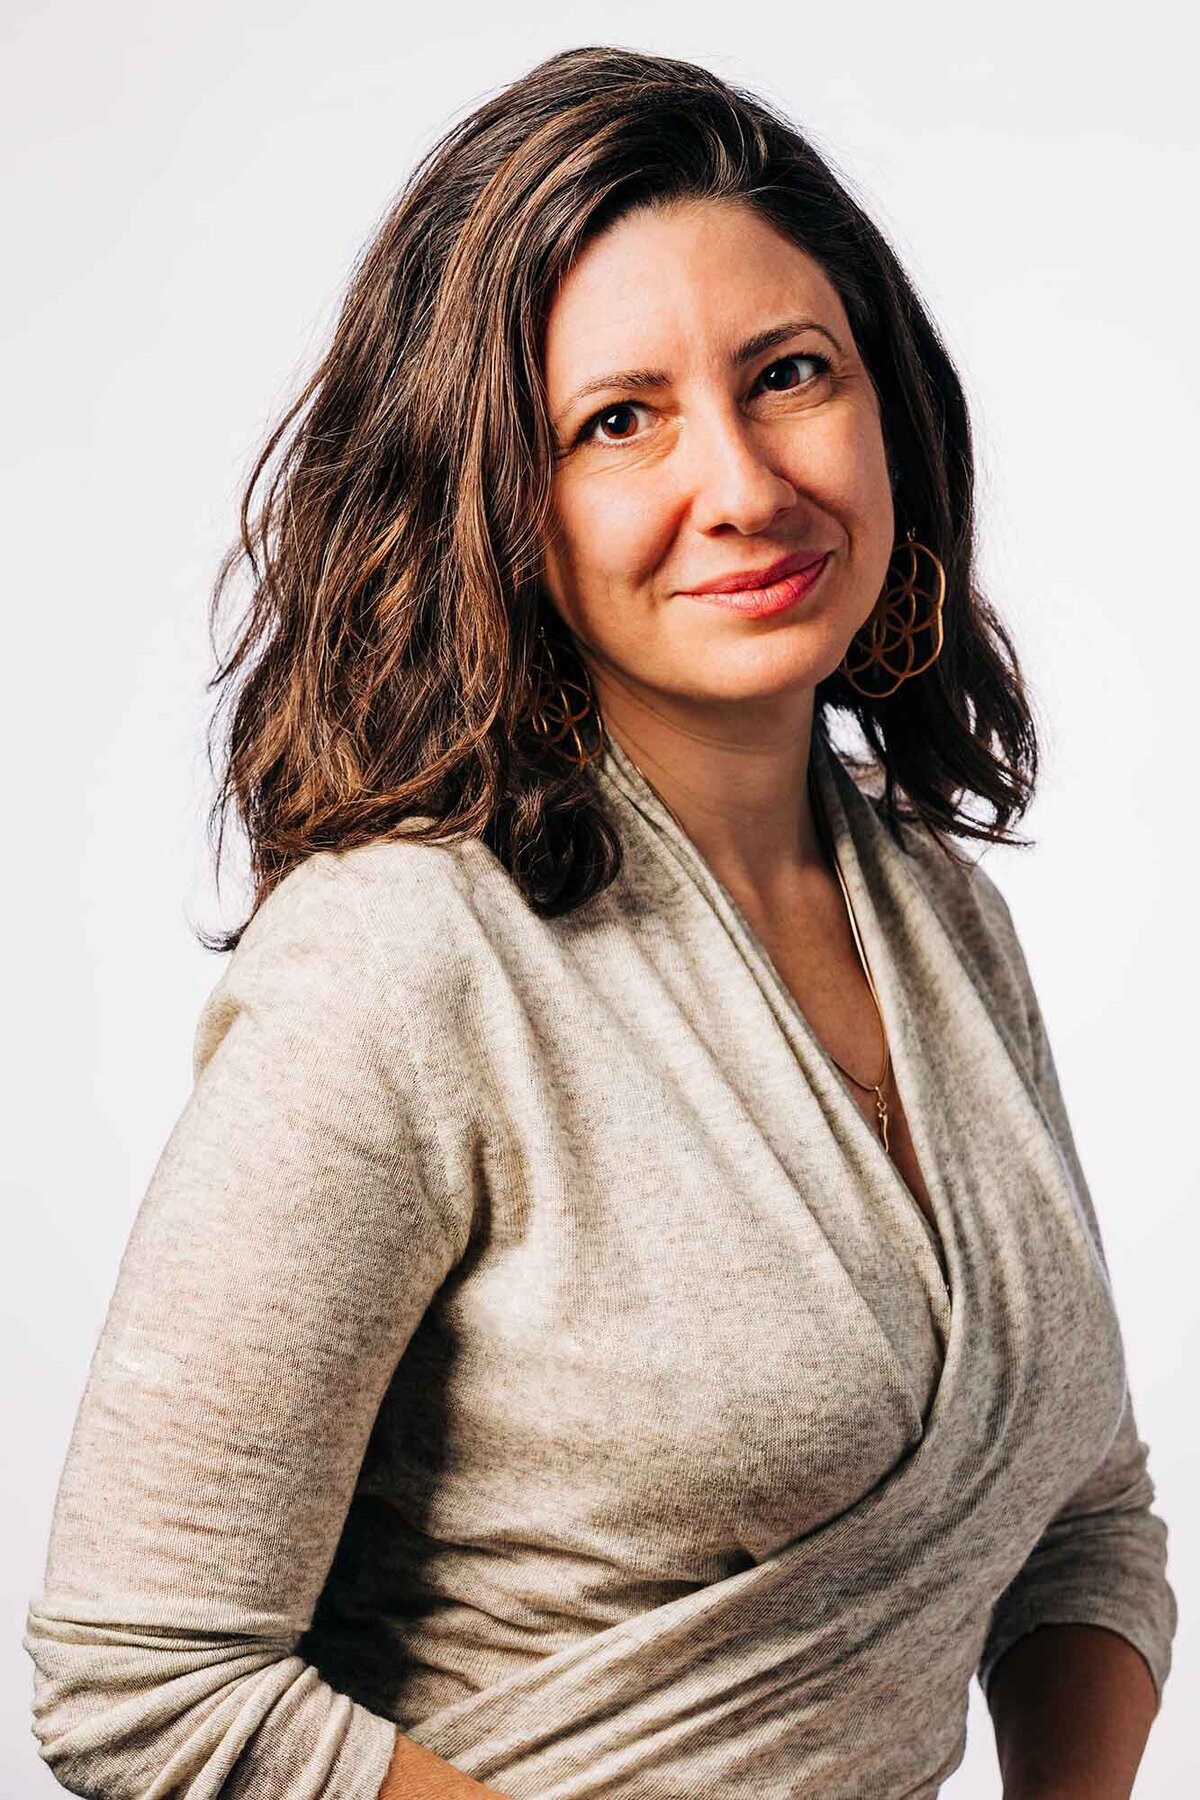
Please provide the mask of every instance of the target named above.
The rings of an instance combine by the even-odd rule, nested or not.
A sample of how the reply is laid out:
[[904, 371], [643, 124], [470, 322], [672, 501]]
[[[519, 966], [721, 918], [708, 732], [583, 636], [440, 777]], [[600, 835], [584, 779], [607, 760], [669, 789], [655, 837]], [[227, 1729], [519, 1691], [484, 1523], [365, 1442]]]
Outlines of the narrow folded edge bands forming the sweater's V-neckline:
[[[617, 740], [606, 731], [604, 733], [604, 751], [599, 758], [599, 769], [624, 790], [626, 797], [658, 828], [658, 832], [667, 839], [676, 857], [684, 860], [685, 868], [691, 871], [693, 880], [709, 889], [716, 889], [729, 909], [738, 918], [741, 931], [748, 945], [754, 950], [756, 959], [761, 963], [763, 976], [775, 992], [779, 1003], [786, 1008], [788, 1019], [793, 1022], [795, 1030], [811, 1046], [817, 1057], [829, 1069], [829, 1075], [846, 1102], [846, 1109], [853, 1114], [855, 1123], [851, 1130], [858, 1130], [869, 1141], [869, 1157], [874, 1159], [876, 1166], [882, 1165], [882, 1181], [889, 1192], [898, 1201], [898, 1210], [907, 1215], [912, 1233], [912, 1242], [916, 1246], [916, 1255], [927, 1260], [927, 1267], [932, 1267], [934, 1292], [941, 1294], [945, 1314], [939, 1318], [939, 1327], [943, 1330], [945, 1341], [950, 1339], [950, 1328], [954, 1319], [955, 1294], [952, 1285], [952, 1256], [950, 1256], [950, 1231], [948, 1231], [948, 1197], [941, 1190], [941, 1181], [937, 1168], [934, 1165], [932, 1145], [927, 1141], [923, 1123], [919, 1120], [919, 1107], [912, 1109], [912, 1096], [919, 1093], [919, 1085], [909, 1078], [910, 1071], [907, 1067], [907, 1040], [901, 1030], [901, 1021], [898, 1015], [898, 1003], [894, 995], [894, 974], [891, 959], [887, 954], [885, 934], [874, 913], [871, 900], [871, 889], [867, 884], [865, 871], [858, 855], [858, 846], [855, 842], [855, 830], [842, 799], [837, 772], [833, 763], [837, 761], [837, 751], [828, 743], [824, 731], [813, 725], [811, 736], [811, 760], [813, 774], [819, 787], [820, 799], [824, 803], [824, 817], [829, 828], [829, 841], [833, 853], [837, 855], [838, 868], [846, 880], [851, 902], [855, 907], [855, 918], [858, 922], [858, 932], [862, 936], [864, 950], [871, 965], [871, 977], [874, 981], [880, 1010], [883, 1013], [883, 1024], [887, 1030], [887, 1039], [892, 1055], [892, 1073], [896, 1085], [900, 1087], [901, 1100], [905, 1105], [905, 1120], [909, 1125], [909, 1134], [912, 1138], [912, 1147], [916, 1152], [925, 1186], [928, 1190], [930, 1206], [934, 1210], [936, 1224], [925, 1217], [923, 1208], [918, 1204], [916, 1195], [903, 1179], [900, 1168], [889, 1156], [889, 1152], [880, 1143], [876, 1132], [862, 1116], [855, 1105], [853, 1096], [846, 1091], [842, 1084], [842, 1075], [833, 1062], [829, 1051], [824, 1048], [811, 1024], [808, 1022], [802, 1008], [799, 1006], [792, 988], [779, 974], [775, 959], [772, 958], [766, 943], [757, 934], [741, 905], [734, 895], [725, 887], [720, 877], [712, 871], [711, 864], [700, 853], [693, 839], [684, 832], [675, 814], [655, 792], [651, 783], [642, 776], [640, 769], [628, 752], [617, 743]], [[849, 772], [842, 769], [842, 779], [853, 785]], [[869, 805], [867, 797], [855, 787], [858, 799], [864, 806]]]

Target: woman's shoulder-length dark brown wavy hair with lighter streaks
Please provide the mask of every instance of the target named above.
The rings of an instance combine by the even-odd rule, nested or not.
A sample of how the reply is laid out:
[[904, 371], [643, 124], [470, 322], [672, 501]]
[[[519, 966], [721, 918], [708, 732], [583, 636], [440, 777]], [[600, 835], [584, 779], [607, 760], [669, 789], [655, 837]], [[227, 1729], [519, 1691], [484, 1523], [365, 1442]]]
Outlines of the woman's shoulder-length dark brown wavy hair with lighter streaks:
[[[840, 673], [815, 729], [853, 715], [883, 815], [950, 837], [1009, 835], [1038, 740], [1013, 643], [975, 583], [963, 385], [910, 279], [847, 185], [765, 101], [707, 68], [565, 50], [477, 106], [419, 160], [351, 274], [333, 340], [248, 479], [236, 567], [252, 598], [209, 688], [225, 711], [216, 866], [236, 808], [254, 911], [317, 850], [480, 837], [542, 916], [621, 868], [585, 767], [531, 733], [574, 637], [542, 589], [554, 441], [542, 338], [556, 284], [624, 212], [741, 200], [837, 286], [880, 400], [901, 526], [946, 571], [945, 641], [871, 700]], [[272, 468], [273, 464], [273, 468]], [[264, 493], [255, 508], [263, 484]], [[252, 517], [254, 515], [254, 517]], [[972, 801], [991, 808], [972, 817]], [[205, 936], [230, 950], [245, 925]]]

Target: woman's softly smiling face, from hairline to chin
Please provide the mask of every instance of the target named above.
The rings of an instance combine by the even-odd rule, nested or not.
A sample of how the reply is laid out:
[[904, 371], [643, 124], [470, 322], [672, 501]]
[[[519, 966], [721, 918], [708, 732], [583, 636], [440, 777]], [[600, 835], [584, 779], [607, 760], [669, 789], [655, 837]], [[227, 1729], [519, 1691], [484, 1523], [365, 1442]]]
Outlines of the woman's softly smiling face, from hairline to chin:
[[[831, 281], [739, 202], [628, 214], [563, 279], [543, 358], [545, 589], [601, 704], [617, 689], [693, 724], [736, 704], [743, 724], [757, 702], [790, 729], [894, 544], [878, 401]], [[797, 551], [829, 560], [784, 612], [689, 592]]]

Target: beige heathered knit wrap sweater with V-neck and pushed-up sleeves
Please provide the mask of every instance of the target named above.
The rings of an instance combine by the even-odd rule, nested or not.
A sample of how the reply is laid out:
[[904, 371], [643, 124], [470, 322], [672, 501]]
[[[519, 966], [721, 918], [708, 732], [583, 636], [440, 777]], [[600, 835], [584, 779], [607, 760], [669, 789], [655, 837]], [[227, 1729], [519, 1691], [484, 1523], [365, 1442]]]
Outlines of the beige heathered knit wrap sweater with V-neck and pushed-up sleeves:
[[[937, 1237], [613, 743], [619, 882], [320, 853], [200, 1017], [31, 1604], [95, 1800], [932, 1800], [968, 1683], [1175, 1595], [1009, 911], [815, 772]], [[1115, 1076], [1114, 1076], [1115, 1080]], [[937, 1260], [945, 1247], [948, 1283]]]

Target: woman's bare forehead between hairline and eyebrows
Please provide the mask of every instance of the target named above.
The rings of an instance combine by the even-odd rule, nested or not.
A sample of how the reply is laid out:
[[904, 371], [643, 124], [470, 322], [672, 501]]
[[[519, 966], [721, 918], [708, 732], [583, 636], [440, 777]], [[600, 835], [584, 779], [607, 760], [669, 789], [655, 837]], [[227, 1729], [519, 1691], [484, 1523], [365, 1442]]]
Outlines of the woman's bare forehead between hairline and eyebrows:
[[639, 209], [594, 238], [560, 283], [543, 337], [547, 387], [561, 392], [594, 369], [630, 364], [682, 373], [801, 315], [851, 342], [820, 263], [752, 207]]

